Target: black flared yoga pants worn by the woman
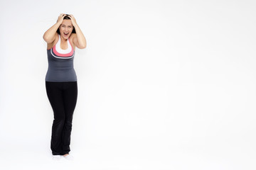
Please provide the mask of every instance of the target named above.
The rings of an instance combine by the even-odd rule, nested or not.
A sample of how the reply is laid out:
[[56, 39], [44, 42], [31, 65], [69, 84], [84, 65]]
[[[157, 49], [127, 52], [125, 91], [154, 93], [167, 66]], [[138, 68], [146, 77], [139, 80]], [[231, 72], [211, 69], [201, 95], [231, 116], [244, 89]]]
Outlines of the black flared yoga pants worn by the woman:
[[73, 112], [78, 98], [77, 81], [46, 81], [46, 92], [54, 115], [50, 149], [53, 155], [68, 154]]

